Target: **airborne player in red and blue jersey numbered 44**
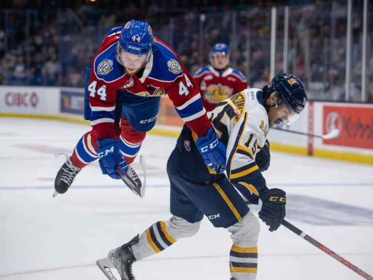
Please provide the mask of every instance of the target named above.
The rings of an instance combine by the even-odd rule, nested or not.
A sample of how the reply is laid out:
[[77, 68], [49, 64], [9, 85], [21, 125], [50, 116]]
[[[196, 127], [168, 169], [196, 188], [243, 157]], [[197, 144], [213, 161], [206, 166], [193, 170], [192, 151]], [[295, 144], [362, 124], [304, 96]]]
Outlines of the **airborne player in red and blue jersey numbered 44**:
[[66, 155], [55, 178], [57, 193], [66, 192], [79, 171], [96, 159], [102, 174], [119, 179], [119, 166], [119, 172], [131, 184], [141, 186], [130, 164], [146, 132], [153, 128], [165, 94], [187, 127], [200, 138], [204, 162], [218, 173], [224, 171], [226, 148], [207, 119], [199, 88], [177, 54], [153, 37], [148, 23], [131, 20], [124, 27], [112, 28], [85, 82], [89, 100], [85, 116], [92, 130], [78, 141], [71, 157]]

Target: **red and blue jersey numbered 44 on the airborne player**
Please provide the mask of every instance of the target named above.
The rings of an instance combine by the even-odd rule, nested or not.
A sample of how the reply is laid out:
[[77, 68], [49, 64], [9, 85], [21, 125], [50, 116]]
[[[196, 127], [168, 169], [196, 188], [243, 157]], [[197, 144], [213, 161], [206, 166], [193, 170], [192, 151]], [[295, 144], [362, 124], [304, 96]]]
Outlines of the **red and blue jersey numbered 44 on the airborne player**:
[[168, 94], [177, 113], [198, 136], [211, 127], [193, 77], [169, 46], [154, 38], [153, 52], [138, 77], [128, 75], [117, 59], [122, 27], [111, 29], [96, 54], [89, 77], [92, 132], [97, 138], [115, 138], [113, 123], [117, 91], [153, 98]]

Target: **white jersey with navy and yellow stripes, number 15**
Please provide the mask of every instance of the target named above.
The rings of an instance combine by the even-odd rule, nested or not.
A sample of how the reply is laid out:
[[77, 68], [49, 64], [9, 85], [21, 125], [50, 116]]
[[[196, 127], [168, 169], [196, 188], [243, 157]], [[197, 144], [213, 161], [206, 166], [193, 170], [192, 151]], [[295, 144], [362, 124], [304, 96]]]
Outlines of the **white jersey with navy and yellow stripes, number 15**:
[[266, 181], [255, 163], [269, 132], [262, 91], [247, 88], [221, 102], [209, 117], [227, 147], [228, 179], [251, 203], [257, 204]]

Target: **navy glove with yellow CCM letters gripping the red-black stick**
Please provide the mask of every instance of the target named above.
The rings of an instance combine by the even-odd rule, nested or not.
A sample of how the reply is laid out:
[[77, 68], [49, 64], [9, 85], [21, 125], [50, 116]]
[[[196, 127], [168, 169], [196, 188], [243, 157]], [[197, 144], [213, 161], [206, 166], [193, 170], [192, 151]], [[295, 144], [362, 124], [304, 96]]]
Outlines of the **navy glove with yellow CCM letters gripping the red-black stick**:
[[280, 189], [269, 189], [259, 195], [262, 209], [259, 218], [270, 226], [270, 231], [276, 230], [285, 218], [286, 192]]

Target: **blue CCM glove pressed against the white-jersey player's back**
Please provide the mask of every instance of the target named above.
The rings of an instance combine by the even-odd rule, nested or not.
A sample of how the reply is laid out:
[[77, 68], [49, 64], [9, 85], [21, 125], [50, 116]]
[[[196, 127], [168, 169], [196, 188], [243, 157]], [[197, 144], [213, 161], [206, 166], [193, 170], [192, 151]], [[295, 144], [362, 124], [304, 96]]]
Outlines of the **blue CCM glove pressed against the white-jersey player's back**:
[[225, 170], [225, 162], [227, 149], [222, 142], [219, 141], [214, 130], [210, 128], [206, 135], [200, 137], [196, 141], [198, 150], [200, 151], [204, 163], [215, 170], [217, 173], [222, 173]]

